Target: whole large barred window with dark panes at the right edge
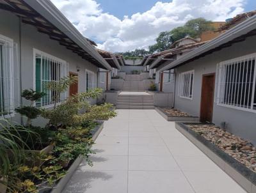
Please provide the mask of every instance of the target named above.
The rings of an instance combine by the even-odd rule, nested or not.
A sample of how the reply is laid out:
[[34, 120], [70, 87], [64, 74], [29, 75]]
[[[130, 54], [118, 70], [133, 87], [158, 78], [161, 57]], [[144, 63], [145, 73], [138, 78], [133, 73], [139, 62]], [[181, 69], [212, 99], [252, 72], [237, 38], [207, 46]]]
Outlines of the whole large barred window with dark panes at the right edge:
[[256, 54], [218, 65], [217, 104], [256, 112]]

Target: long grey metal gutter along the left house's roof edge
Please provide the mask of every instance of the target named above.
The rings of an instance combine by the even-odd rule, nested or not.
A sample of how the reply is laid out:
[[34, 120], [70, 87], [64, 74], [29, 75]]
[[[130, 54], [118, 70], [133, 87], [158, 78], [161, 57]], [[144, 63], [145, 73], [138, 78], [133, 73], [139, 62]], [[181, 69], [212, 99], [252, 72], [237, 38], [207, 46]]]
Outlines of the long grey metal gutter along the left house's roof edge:
[[54, 6], [49, 0], [23, 0], [42, 17], [47, 19], [51, 24], [60, 29], [62, 33], [73, 40], [84, 51], [88, 52], [93, 58], [95, 58], [101, 65], [108, 70], [111, 70], [111, 66], [100, 56], [99, 52], [84, 38], [83, 35], [73, 26], [73, 24]]

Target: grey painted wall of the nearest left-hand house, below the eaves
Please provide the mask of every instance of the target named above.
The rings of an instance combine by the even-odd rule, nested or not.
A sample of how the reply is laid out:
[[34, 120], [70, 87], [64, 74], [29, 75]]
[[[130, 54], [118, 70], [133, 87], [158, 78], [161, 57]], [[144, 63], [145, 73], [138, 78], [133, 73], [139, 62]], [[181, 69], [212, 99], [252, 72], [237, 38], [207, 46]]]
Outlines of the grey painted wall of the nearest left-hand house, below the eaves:
[[[15, 91], [15, 107], [19, 106], [19, 54], [20, 54], [20, 38], [19, 38], [19, 18], [10, 12], [0, 10], [0, 34], [11, 38], [17, 45], [17, 58], [14, 63], [14, 91]], [[33, 49], [38, 49], [47, 54], [51, 54], [56, 58], [63, 59], [69, 64], [69, 71], [78, 73], [78, 89], [79, 92], [85, 90], [85, 70], [88, 69], [97, 73], [97, 67], [92, 65], [89, 61], [86, 61], [73, 53], [71, 50], [61, 46], [60, 43], [51, 40], [49, 36], [39, 33], [35, 27], [28, 24], [21, 25], [21, 63], [22, 68], [22, 90], [33, 88]], [[77, 72], [79, 68], [79, 72]], [[28, 101], [24, 100], [24, 104]], [[95, 103], [95, 100], [92, 101]], [[19, 115], [17, 114], [14, 121], [19, 121]], [[42, 120], [42, 119], [41, 119]], [[37, 121], [42, 124], [44, 121]]]

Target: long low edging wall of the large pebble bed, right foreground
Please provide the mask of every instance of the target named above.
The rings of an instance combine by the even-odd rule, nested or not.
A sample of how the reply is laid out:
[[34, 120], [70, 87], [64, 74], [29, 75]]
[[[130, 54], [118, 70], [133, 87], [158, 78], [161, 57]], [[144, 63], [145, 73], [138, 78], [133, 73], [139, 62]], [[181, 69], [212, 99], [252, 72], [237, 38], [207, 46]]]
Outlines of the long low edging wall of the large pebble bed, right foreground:
[[[211, 158], [225, 173], [233, 178], [248, 193], [256, 192], [256, 173], [238, 162], [223, 150], [212, 144], [200, 134], [186, 126], [188, 123], [175, 123], [175, 127], [195, 144], [201, 151]], [[191, 123], [195, 124], [195, 123]]]

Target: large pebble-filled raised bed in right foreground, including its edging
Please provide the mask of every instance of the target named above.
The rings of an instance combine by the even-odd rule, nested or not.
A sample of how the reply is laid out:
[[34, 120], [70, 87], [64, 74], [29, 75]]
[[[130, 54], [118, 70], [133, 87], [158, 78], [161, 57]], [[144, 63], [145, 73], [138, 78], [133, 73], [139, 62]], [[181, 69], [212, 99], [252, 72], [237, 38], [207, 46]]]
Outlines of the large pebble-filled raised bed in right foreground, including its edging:
[[215, 125], [176, 123], [176, 128], [247, 192], [256, 192], [255, 146]]

